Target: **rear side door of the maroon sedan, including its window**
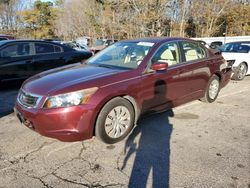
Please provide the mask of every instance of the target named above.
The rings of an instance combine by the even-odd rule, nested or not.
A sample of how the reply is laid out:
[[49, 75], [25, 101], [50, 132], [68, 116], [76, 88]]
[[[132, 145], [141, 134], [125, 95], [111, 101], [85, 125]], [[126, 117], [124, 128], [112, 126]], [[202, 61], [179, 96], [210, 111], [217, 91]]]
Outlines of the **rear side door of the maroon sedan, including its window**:
[[210, 65], [214, 60], [209, 59], [205, 47], [191, 41], [180, 42], [185, 69], [191, 74], [188, 77], [187, 100], [203, 97], [209, 78], [211, 77]]

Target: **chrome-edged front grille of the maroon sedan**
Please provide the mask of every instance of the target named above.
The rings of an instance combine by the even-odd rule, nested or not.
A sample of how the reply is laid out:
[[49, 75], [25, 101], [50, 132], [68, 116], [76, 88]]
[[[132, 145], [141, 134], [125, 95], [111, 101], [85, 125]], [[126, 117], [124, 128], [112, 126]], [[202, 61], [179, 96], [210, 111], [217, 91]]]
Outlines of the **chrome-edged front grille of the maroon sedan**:
[[26, 108], [35, 108], [37, 107], [41, 97], [38, 95], [34, 95], [31, 93], [26, 93], [22, 90], [20, 90], [19, 95], [18, 95], [18, 102], [26, 107]]

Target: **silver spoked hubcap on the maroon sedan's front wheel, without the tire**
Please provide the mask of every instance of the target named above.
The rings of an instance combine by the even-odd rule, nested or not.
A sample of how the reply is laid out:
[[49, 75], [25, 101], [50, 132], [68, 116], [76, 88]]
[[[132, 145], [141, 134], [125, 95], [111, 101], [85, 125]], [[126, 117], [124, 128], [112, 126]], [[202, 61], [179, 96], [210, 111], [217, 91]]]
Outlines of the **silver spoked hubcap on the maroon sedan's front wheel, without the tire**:
[[129, 110], [125, 106], [117, 106], [106, 117], [105, 132], [111, 138], [119, 138], [128, 130], [130, 121]]

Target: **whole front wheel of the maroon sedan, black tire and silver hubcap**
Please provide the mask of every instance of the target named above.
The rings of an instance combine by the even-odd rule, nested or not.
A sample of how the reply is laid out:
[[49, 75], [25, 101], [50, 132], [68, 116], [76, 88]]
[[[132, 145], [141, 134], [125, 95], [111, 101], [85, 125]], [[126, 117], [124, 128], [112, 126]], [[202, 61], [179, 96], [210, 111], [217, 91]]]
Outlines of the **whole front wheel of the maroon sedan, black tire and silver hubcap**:
[[132, 104], [126, 99], [114, 98], [101, 109], [96, 120], [95, 136], [107, 144], [114, 144], [130, 133], [134, 121]]

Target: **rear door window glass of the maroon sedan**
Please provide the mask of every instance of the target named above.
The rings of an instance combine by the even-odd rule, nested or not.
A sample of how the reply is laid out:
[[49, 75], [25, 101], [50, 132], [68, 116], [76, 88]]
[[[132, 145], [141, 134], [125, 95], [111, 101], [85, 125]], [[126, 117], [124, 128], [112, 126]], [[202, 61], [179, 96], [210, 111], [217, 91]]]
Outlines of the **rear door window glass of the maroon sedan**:
[[196, 43], [182, 42], [182, 48], [186, 61], [194, 61], [207, 57], [206, 50]]

